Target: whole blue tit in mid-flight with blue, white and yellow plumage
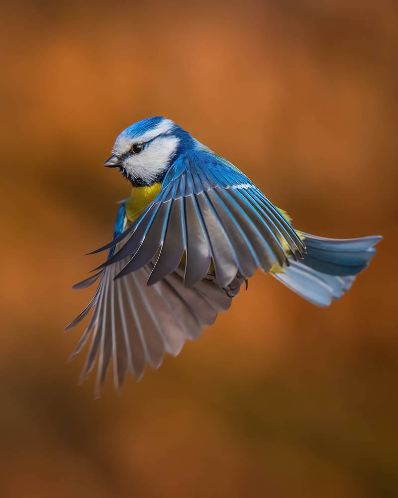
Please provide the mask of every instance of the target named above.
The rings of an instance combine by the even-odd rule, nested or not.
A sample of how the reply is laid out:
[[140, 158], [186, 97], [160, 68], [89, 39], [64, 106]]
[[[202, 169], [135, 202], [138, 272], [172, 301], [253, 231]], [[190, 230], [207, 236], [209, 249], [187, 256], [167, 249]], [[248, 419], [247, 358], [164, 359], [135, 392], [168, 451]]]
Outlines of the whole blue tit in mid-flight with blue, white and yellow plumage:
[[[154, 116], [125, 128], [104, 166], [131, 183], [112, 240], [95, 273], [93, 298], [66, 330], [92, 310], [73, 359], [91, 337], [80, 376], [97, 366], [100, 395], [110, 361], [113, 381], [139, 380], [165, 353], [177, 356], [199, 338], [257, 269], [302, 298], [328, 306], [375, 254], [381, 236], [328, 239], [298, 230], [236, 166], [170, 119]], [[94, 270], [93, 270], [94, 271]], [[97, 362], [98, 360], [98, 362]]]

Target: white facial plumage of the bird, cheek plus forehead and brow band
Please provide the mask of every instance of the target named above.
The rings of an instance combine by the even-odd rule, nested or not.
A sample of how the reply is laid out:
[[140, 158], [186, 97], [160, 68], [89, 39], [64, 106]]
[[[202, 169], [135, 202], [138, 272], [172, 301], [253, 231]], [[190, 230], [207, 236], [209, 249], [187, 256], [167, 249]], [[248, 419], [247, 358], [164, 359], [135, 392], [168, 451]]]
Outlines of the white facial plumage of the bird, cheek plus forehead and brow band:
[[[113, 145], [113, 153], [119, 157], [126, 154], [122, 165], [131, 177], [141, 178], [151, 184], [159, 174], [168, 169], [170, 158], [177, 149], [180, 139], [173, 135], [159, 135], [167, 133], [172, 127], [173, 122], [165, 119], [140, 136], [132, 138], [123, 132], [120, 133]], [[144, 145], [141, 152], [130, 153], [134, 144]]]

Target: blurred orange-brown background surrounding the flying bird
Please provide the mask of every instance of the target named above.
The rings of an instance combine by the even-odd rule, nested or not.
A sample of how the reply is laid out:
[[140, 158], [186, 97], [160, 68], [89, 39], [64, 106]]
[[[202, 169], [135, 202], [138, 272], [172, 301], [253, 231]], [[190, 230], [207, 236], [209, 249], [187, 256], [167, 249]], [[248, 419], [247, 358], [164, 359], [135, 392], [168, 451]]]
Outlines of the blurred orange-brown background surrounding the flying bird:
[[[3, 2], [4, 3], [4, 2]], [[2, 5], [0, 496], [398, 496], [395, 1]], [[164, 115], [298, 229], [382, 234], [318, 309], [256, 274], [122, 395], [67, 363], [129, 184], [102, 167]]]

